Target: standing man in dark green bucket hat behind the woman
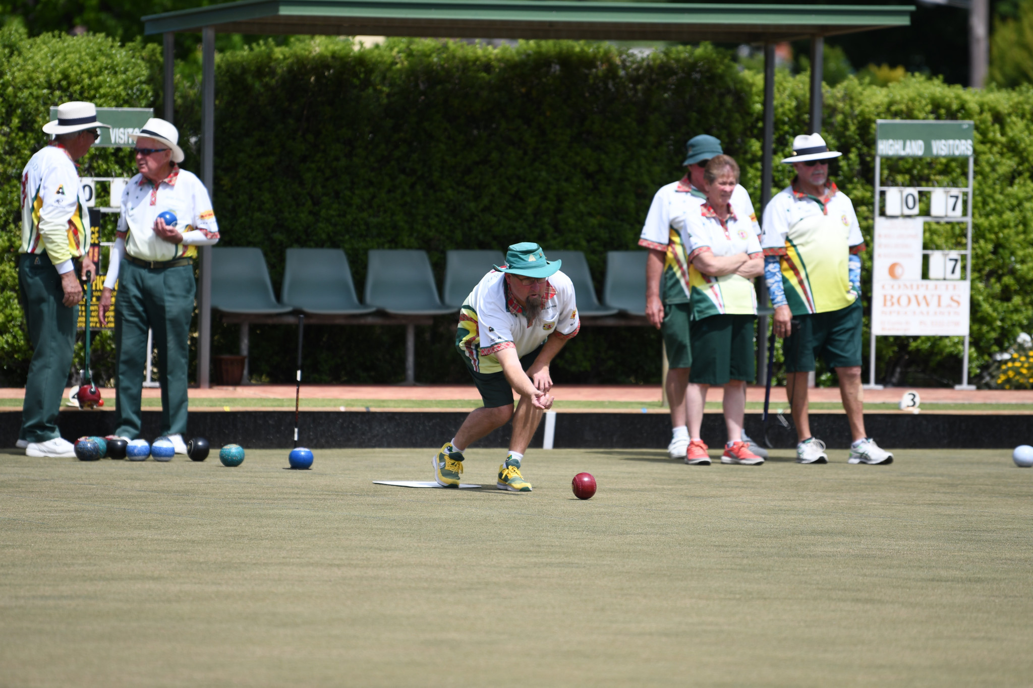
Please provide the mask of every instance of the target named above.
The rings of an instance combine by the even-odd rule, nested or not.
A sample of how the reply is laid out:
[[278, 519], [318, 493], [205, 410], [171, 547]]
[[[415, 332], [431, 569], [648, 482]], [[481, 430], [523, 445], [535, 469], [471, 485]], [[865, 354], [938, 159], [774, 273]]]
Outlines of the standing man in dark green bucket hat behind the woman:
[[[703, 170], [713, 158], [724, 155], [721, 141], [708, 134], [690, 138], [686, 144], [687, 166], [685, 176], [679, 182], [663, 186], [653, 197], [646, 224], [643, 226], [638, 245], [649, 249], [646, 260], [646, 317], [663, 334], [667, 352], [667, 403], [670, 405], [671, 439], [667, 453], [672, 459], [683, 460], [689, 447], [688, 413], [685, 391], [689, 385], [692, 351], [689, 345], [689, 261], [682, 243], [686, 212], [699, 215], [706, 202]], [[750, 195], [742, 185], [735, 185], [731, 201], [750, 218], [754, 233], [760, 234]], [[762, 452], [744, 436], [751, 449]], [[764, 453], [766, 456], [766, 453]]]

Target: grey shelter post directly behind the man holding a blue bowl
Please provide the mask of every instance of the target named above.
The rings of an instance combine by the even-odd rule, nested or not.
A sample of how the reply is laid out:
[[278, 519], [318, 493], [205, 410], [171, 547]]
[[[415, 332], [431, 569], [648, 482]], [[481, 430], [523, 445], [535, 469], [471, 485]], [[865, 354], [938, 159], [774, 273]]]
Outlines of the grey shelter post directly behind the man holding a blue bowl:
[[[215, 181], [215, 27], [201, 30], [201, 182], [214, 196]], [[212, 247], [200, 248], [200, 285], [197, 290], [197, 386], [211, 387], [212, 366]]]

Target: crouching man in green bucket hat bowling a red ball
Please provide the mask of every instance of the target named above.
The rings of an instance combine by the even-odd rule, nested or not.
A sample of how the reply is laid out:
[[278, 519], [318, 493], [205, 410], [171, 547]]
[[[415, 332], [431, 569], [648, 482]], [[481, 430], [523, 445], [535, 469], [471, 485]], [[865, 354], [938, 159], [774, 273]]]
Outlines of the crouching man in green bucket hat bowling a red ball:
[[[458, 488], [463, 452], [493, 430], [513, 421], [509, 452], [496, 486], [530, 492], [521, 460], [541, 414], [553, 405], [549, 364], [581, 329], [574, 286], [537, 243], [514, 243], [504, 265], [496, 265], [473, 288], [460, 309], [456, 348], [484, 405], [474, 409], [434, 457], [434, 479]], [[513, 393], [520, 404], [513, 412]]]

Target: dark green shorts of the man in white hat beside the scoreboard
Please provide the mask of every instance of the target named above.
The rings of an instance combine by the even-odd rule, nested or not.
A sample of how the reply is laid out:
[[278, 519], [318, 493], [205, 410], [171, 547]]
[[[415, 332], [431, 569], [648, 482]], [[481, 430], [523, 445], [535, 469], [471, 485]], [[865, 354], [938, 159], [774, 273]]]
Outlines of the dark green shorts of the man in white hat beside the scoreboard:
[[860, 299], [839, 310], [795, 316], [792, 321], [792, 334], [782, 343], [786, 372], [814, 370], [818, 354], [829, 368], [860, 365]]

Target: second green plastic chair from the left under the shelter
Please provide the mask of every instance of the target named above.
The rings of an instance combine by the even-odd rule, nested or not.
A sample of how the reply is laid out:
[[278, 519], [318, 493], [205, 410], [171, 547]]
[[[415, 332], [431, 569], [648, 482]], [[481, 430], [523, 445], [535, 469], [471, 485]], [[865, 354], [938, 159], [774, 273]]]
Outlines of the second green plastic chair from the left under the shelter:
[[359, 303], [348, 257], [340, 249], [287, 249], [280, 302], [322, 316], [359, 316], [376, 310]]

